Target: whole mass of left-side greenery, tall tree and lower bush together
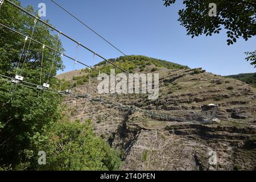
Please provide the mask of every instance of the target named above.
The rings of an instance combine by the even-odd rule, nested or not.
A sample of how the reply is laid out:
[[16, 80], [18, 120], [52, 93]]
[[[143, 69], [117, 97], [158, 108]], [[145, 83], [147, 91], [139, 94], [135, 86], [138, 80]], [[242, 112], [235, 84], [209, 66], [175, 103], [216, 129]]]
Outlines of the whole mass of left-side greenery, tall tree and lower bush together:
[[[13, 2], [19, 6], [21, 4], [16, 0]], [[32, 14], [36, 13], [32, 6], [26, 9]], [[31, 34], [34, 26], [34, 19], [8, 3], [1, 7], [0, 22], [26, 35]], [[16, 70], [24, 38], [2, 27], [0, 35], [0, 74], [15, 77], [17, 71], [24, 81], [38, 85], [42, 46], [31, 42], [28, 49], [27, 43], [27, 59], [24, 59], [25, 51]], [[57, 44], [56, 34], [39, 22], [36, 23], [33, 38], [64, 51], [61, 42]], [[60, 81], [54, 76], [58, 69], [62, 69], [61, 65], [60, 55], [44, 49], [42, 82], [47, 82], [49, 77], [51, 88], [60, 88]], [[23, 66], [24, 69], [20, 69]], [[58, 94], [13, 85], [7, 81], [1, 77], [0, 170], [118, 169], [121, 161], [117, 151], [95, 136], [89, 121], [84, 124], [71, 123], [62, 115], [61, 97]], [[70, 82], [61, 80], [63, 90], [69, 85]], [[39, 151], [47, 152], [47, 166], [38, 165]]]

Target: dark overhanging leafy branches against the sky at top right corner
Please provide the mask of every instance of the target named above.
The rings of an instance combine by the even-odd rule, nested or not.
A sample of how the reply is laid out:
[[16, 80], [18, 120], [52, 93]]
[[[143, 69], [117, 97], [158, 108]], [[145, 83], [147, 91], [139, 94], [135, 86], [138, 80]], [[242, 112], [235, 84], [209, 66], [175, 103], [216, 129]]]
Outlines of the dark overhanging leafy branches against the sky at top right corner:
[[[176, 0], [163, 0], [164, 6], [174, 4]], [[217, 16], [209, 16], [209, 4], [216, 3]], [[179, 10], [179, 21], [192, 38], [205, 34], [219, 34], [226, 29], [228, 45], [243, 38], [246, 41], [256, 35], [256, 2], [254, 0], [184, 0], [185, 9]], [[252, 52], [253, 53], [253, 52]], [[250, 54], [250, 53], [248, 53]], [[252, 59], [251, 59], [252, 58]], [[255, 65], [255, 56], [250, 57]]]

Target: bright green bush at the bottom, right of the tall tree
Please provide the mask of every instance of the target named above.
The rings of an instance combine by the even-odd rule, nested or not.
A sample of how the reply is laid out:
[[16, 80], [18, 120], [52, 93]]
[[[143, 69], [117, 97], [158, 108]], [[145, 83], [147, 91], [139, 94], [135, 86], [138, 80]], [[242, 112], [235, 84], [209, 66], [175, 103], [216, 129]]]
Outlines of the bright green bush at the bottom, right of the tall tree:
[[92, 123], [56, 122], [42, 144], [47, 164], [44, 170], [117, 170], [121, 159], [108, 143], [96, 137]]

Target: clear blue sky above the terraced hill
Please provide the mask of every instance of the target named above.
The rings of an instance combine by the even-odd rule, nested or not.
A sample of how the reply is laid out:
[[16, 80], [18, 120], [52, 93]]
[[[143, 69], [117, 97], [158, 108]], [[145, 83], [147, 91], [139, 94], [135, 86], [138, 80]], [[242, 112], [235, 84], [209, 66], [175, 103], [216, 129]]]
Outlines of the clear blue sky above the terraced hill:
[[[22, 6], [38, 3], [47, 6], [47, 19], [60, 31], [81, 44], [88, 46], [107, 59], [122, 56], [97, 35], [53, 4], [50, 0], [22, 0]], [[162, 0], [56, 0], [82, 21], [104, 36], [126, 55], [145, 55], [191, 68], [202, 67], [218, 75], [255, 72], [255, 68], [245, 60], [245, 51], [256, 49], [256, 38], [247, 42], [239, 39], [236, 44], [227, 46], [226, 33], [212, 37], [199, 36], [191, 39], [184, 27], [177, 21], [177, 11], [183, 7], [181, 1], [172, 7], [163, 6]], [[61, 37], [65, 53], [75, 56], [76, 45]], [[93, 55], [80, 49], [78, 60], [92, 65]], [[101, 61], [96, 59], [95, 63]], [[64, 58], [71, 71], [73, 64]], [[77, 69], [85, 68], [77, 65]]]

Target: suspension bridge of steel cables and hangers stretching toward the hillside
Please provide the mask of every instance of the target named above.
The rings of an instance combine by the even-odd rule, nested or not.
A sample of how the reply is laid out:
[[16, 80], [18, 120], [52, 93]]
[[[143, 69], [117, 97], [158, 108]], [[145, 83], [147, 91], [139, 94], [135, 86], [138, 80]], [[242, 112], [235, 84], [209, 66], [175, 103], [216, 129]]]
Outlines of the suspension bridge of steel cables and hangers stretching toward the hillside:
[[[54, 1], [52, 1], [54, 2]], [[128, 71], [126, 71], [124, 68], [118, 66], [117, 64], [113, 63], [112, 61], [109, 61], [108, 59], [106, 59], [105, 57], [101, 56], [100, 54], [96, 53], [95, 51], [93, 51], [92, 49], [84, 46], [83, 44], [79, 43], [77, 40], [71, 38], [71, 36], [68, 36], [67, 34], [64, 34], [62, 31], [58, 30], [57, 28], [51, 26], [50, 24], [48, 24], [47, 22], [45, 22], [44, 20], [38, 18], [37, 16], [31, 14], [30, 12], [28, 12], [27, 10], [24, 10], [22, 7], [16, 5], [15, 3], [9, 1], [9, 0], [1, 0], [0, 1], [0, 5], [2, 6], [3, 3], [9, 3], [9, 5], [11, 6], [14, 6], [16, 7], [16, 9], [22, 11], [23, 13], [27, 14], [28, 16], [30, 16], [31, 18], [34, 18], [34, 25], [32, 27], [32, 32], [30, 34], [30, 36], [28, 35], [24, 35], [22, 32], [19, 32], [18, 30], [14, 30], [14, 28], [11, 28], [11, 27], [8, 27], [6, 26], [5, 24], [2, 24], [0, 23], [0, 26], [2, 28], [5, 28], [6, 30], [9, 30], [10, 32], [13, 32], [14, 34], [18, 34], [20, 36], [22, 36], [24, 38], [24, 44], [23, 44], [23, 47], [22, 47], [22, 51], [20, 53], [20, 57], [19, 57], [19, 61], [18, 61], [18, 65], [16, 67], [16, 71], [15, 71], [15, 75], [13, 77], [11, 76], [6, 76], [6, 75], [0, 75], [0, 80], [1, 81], [6, 81], [6, 82], [10, 82], [11, 84], [14, 84], [15, 85], [15, 88], [14, 90], [12, 91], [12, 94], [13, 92], [15, 92], [15, 89], [16, 89], [16, 86], [17, 85], [20, 85], [20, 86], [25, 86], [27, 88], [30, 88], [30, 89], [35, 89], [35, 90], [39, 90], [39, 92], [48, 92], [48, 93], [52, 93], [52, 94], [56, 94], [56, 95], [59, 95], [59, 96], [63, 96], [63, 97], [69, 97], [69, 98], [76, 98], [77, 100], [80, 100], [80, 99], [88, 99], [90, 102], [98, 102], [102, 105], [108, 105], [110, 107], [113, 107], [115, 109], [119, 109], [119, 110], [127, 110], [127, 111], [138, 111], [138, 112], [141, 112], [141, 113], [144, 113], [146, 115], [150, 115], [150, 117], [152, 118], [156, 118], [156, 117], [159, 117], [159, 118], [162, 118], [164, 121], [177, 121], [177, 122], [186, 122], [187, 119], [185, 118], [180, 118], [180, 117], [175, 117], [173, 115], [168, 115], [168, 114], [162, 114], [162, 113], [158, 113], [158, 112], [155, 112], [155, 111], [150, 111], [150, 110], [145, 110], [145, 109], [141, 109], [139, 107], [136, 107], [136, 106], [131, 106], [131, 105], [123, 105], [123, 104], [120, 104], [120, 103], [115, 103], [113, 101], [105, 101], [105, 100], [102, 100], [102, 98], [100, 97], [90, 97], [88, 93], [84, 93], [84, 94], [78, 94], [77, 92], [77, 80], [76, 80], [76, 91], [75, 93], [73, 93], [71, 91], [71, 89], [65, 89], [63, 90], [61, 88], [61, 81], [62, 79], [60, 79], [60, 89], [53, 89], [51, 88], [51, 85], [49, 85], [49, 78], [50, 78], [50, 75], [51, 75], [51, 72], [52, 72], [52, 69], [55, 65], [55, 61], [56, 61], [56, 57], [57, 55], [60, 56], [61, 58], [62, 57], [67, 57], [69, 61], [72, 61], [73, 62], [73, 71], [75, 71], [75, 67], [76, 67], [76, 64], [81, 64], [83, 66], [85, 66], [86, 68], [89, 68], [89, 82], [90, 82], [90, 74], [92, 71], [96, 71], [98, 73], [104, 73], [104, 72], [101, 72], [99, 71], [96, 67], [93, 67], [93, 65], [88, 65], [88, 64], [85, 64], [84, 62], [85, 61], [80, 61], [80, 60], [77, 60], [77, 51], [79, 51], [79, 48], [83, 48], [87, 51], [89, 51], [90, 53], [93, 54], [93, 60], [95, 59], [95, 57], [99, 57], [103, 60], [106, 61], [106, 63], [109, 63], [111, 65], [113, 65], [115, 68], [117, 69], [120, 69], [122, 72], [126, 73], [127, 75], [130, 75], [132, 77], [134, 77], [133, 74], [129, 73]], [[56, 2], [54, 2], [56, 3]], [[59, 4], [57, 4], [58, 6], [60, 6]], [[0, 8], [1, 8], [0, 6]], [[60, 6], [61, 7], [61, 6]], [[61, 7], [63, 8], [63, 7]], [[65, 10], [65, 9], [64, 9]], [[67, 10], [65, 10], [67, 11]], [[68, 12], [68, 11], [67, 11]], [[68, 12], [69, 13], [69, 12]], [[69, 13], [71, 14], [71, 13]], [[72, 14], [71, 14], [72, 15]], [[73, 15], [72, 15], [73, 16]], [[76, 18], [76, 17], [75, 17]], [[77, 18], [76, 18], [77, 19]], [[79, 20], [79, 19], [78, 19]], [[81, 20], [79, 20], [81, 22]], [[43, 23], [44, 25], [46, 25], [48, 28], [51, 28], [52, 30], [56, 31], [57, 32], [57, 43], [56, 43], [56, 47], [50, 47], [48, 46], [47, 44], [44, 44], [42, 42], [39, 42], [38, 40], [35, 40], [35, 38], [33, 38], [33, 35], [35, 33], [35, 26], [38, 22], [41, 22]], [[82, 23], [82, 22], [81, 22]], [[93, 30], [92, 30], [93, 31]], [[97, 34], [97, 32], [94, 31], [95, 34]], [[97, 34], [99, 35], [99, 34]], [[57, 47], [59, 46], [60, 44], [60, 36], [64, 36], [65, 38], [71, 40], [72, 42], [76, 43], [76, 54], [75, 54], [75, 57], [72, 57], [72, 56], [69, 56], [67, 54], [65, 54], [64, 52], [61, 52], [61, 51], [58, 51], [57, 50]], [[100, 35], [99, 35], [100, 36]], [[104, 39], [102, 36], [101, 36], [102, 39]], [[104, 39], [106, 42], [108, 42], [108, 40]], [[30, 50], [30, 47], [31, 47], [31, 42], [34, 42], [34, 43], [37, 43], [37, 44], [40, 44], [42, 46], [42, 56], [41, 56], [41, 67], [40, 67], [40, 78], [39, 78], [39, 84], [35, 84], [35, 83], [32, 83], [32, 82], [28, 82], [26, 81], [26, 78], [23, 77], [23, 71], [24, 71], [24, 64], [26, 63], [27, 61], [27, 56], [28, 56], [28, 51]], [[25, 50], [25, 47], [26, 47], [26, 44], [28, 43], [28, 48], [27, 50]], [[114, 47], [115, 49], [117, 49], [119, 52], [121, 52], [123, 55], [125, 55], [125, 53], [123, 53], [122, 51], [120, 51], [117, 47], [113, 46], [113, 44], [111, 44], [110, 42], [108, 42], [112, 47]], [[51, 68], [50, 68], [50, 72], [48, 73], [48, 77], [47, 77], [47, 80], [42, 80], [42, 74], [43, 74], [43, 66], [44, 66], [44, 51], [45, 49], [49, 49], [51, 51], [54, 52], [54, 55], [53, 55], [53, 60], [52, 60], [52, 64], [51, 64]], [[22, 57], [24, 55], [24, 59], [22, 61]], [[126, 56], [126, 55], [125, 55]], [[61, 61], [61, 67], [63, 67], [62, 65], [62, 61]], [[20, 66], [22, 65], [22, 67]], [[20, 69], [21, 67], [21, 69]], [[76, 72], [76, 76], [77, 76], [77, 70], [75, 71]], [[108, 74], [107, 74], [108, 75]], [[138, 79], [139, 81], [142, 81], [140, 80], [140, 78], [138, 77], [134, 77], [134, 79]], [[142, 81], [143, 82], [143, 81]], [[146, 83], [147, 84], [147, 83]], [[67, 100], [68, 101], [68, 100]], [[66, 105], [67, 105], [67, 101], [66, 101]], [[208, 118], [208, 121], [204, 121], [204, 122], [201, 122], [201, 121], [187, 121], [187, 122], [200, 122], [200, 123], [210, 123], [212, 121], [212, 119], [215, 117], [216, 115], [216, 112], [217, 112], [217, 109], [218, 109], [218, 106], [214, 106], [214, 112], [213, 114]], [[77, 108], [77, 110], [79, 110]], [[81, 109], [81, 110], [84, 110], [84, 107]], [[80, 110], [80, 111], [81, 111]]]

